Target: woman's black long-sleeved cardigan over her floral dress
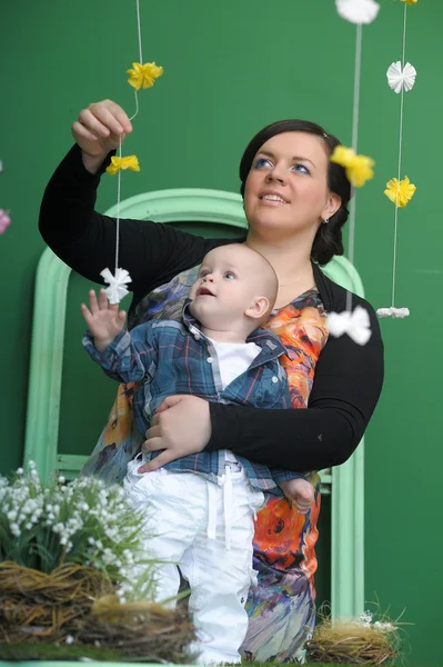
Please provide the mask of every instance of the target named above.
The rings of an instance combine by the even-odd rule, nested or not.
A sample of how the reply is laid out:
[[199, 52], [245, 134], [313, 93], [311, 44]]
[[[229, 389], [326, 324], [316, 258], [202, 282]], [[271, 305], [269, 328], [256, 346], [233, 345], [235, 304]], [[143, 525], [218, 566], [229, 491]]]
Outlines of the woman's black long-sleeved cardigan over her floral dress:
[[[103, 282], [113, 266], [115, 220], [94, 211], [100, 176], [83, 167], [74, 146], [52, 176], [42, 200], [39, 229], [44, 241], [73, 270]], [[233, 239], [204, 239], [170, 225], [124, 220], [120, 227], [120, 266], [131, 275], [130, 309], [155, 287], [197, 266], [204, 255]], [[314, 265], [326, 311], [346, 308], [346, 291]], [[348, 336], [330, 337], [315, 368], [308, 409], [266, 410], [210, 404], [212, 436], [207, 449], [225, 449], [250, 460], [294, 470], [320, 470], [344, 462], [359, 445], [383, 382], [383, 342], [370, 303], [353, 296], [353, 307], [369, 311], [372, 336], [359, 346]]]

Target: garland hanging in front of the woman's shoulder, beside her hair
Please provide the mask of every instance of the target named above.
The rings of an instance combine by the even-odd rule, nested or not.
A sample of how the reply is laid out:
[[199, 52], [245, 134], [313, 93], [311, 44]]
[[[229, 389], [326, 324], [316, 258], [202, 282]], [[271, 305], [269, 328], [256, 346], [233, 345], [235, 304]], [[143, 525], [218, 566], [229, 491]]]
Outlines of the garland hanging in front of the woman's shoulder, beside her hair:
[[[351, 183], [351, 195], [353, 197], [350, 205], [348, 258], [353, 265], [356, 211], [355, 188], [361, 188], [374, 176], [372, 169], [374, 161], [366, 156], [358, 155], [363, 24], [371, 23], [376, 18], [380, 4], [374, 2], [374, 0], [335, 0], [335, 7], [343, 19], [356, 24], [352, 148], [338, 146], [331, 156], [332, 162], [344, 167], [346, 177]], [[343, 312], [330, 312], [328, 329], [336, 338], [348, 334], [358, 345], [366, 345], [371, 338], [369, 312], [362, 306], [356, 306], [352, 310], [352, 292], [350, 290], [346, 291], [346, 309]]]

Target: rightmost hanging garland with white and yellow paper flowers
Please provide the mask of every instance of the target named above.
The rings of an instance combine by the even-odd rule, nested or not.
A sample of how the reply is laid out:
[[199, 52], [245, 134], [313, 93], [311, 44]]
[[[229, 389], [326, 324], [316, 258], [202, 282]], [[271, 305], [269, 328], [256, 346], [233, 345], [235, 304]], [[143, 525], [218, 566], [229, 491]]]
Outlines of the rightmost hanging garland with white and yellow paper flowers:
[[416, 4], [419, 0], [400, 0], [404, 2], [403, 14], [403, 49], [402, 59], [393, 62], [386, 71], [389, 87], [400, 94], [400, 132], [399, 132], [399, 162], [397, 178], [393, 178], [386, 183], [385, 196], [394, 205], [394, 251], [392, 260], [392, 302], [390, 308], [379, 308], [376, 313], [380, 318], [405, 318], [410, 315], [409, 308], [395, 307], [395, 283], [396, 283], [396, 258], [397, 258], [397, 237], [399, 237], [399, 209], [404, 208], [413, 198], [416, 187], [411, 183], [407, 176], [401, 179], [402, 157], [403, 157], [403, 120], [404, 120], [404, 93], [410, 92], [416, 78], [416, 70], [410, 63], [405, 62], [406, 54], [406, 27], [407, 27], [407, 6]]

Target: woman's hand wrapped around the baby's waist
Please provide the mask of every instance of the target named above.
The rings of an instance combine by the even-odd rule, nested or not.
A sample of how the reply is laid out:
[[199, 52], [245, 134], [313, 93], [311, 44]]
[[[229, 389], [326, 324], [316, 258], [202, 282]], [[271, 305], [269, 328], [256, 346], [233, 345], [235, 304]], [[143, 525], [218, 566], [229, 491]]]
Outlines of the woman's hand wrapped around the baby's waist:
[[151, 472], [183, 456], [198, 454], [211, 437], [209, 402], [197, 396], [169, 396], [155, 410], [143, 451], [163, 451], [139, 472]]

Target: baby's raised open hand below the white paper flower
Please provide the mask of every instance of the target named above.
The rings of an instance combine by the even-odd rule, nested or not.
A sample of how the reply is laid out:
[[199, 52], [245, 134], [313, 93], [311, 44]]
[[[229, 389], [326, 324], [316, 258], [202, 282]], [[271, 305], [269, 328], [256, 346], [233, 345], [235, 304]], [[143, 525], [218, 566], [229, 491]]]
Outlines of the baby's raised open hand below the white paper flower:
[[104, 289], [100, 290], [98, 299], [94, 290], [90, 290], [89, 308], [82, 303], [81, 312], [94, 337], [95, 348], [103, 352], [122, 331], [127, 313], [124, 310], [119, 311], [118, 303], [108, 303]]

